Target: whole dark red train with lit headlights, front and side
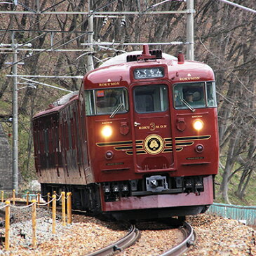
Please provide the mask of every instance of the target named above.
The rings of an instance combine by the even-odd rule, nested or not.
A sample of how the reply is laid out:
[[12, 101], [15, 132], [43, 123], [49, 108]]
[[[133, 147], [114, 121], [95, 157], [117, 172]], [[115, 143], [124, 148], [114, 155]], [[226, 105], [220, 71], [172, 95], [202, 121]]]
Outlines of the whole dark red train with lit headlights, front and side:
[[213, 70], [149, 50], [88, 72], [33, 118], [42, 194], [117, 219], [204, 213], [218, 169]]

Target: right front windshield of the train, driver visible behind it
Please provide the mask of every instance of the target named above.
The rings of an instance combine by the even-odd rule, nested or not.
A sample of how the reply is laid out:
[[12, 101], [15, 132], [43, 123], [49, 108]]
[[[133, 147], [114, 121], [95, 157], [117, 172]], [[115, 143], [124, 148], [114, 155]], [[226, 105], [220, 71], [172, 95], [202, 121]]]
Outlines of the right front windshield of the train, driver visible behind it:
[[217, 106], [215, 82], [177, 83], [173, 97], [175, 109]]

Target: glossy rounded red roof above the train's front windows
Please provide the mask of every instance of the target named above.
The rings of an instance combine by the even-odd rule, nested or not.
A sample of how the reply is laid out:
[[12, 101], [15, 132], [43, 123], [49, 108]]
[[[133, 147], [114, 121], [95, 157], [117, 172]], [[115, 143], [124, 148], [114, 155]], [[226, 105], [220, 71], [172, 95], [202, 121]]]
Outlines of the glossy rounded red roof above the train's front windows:
[[[104, 88], [109, 86], [129, 86], [135, 82], [131, 69], [142, 67], [166, 67], [166, 79], [173, 83], [181, 81], [213, 81], [213, 69], [203, 62], [184, 60], [184, 55], [178, 58], [161, 53], [161, 50], [143, 50], [123, 53], [107, 60], [84, 76], [84, 88]], [[149, 80], [147, 80], [149, 81]]]

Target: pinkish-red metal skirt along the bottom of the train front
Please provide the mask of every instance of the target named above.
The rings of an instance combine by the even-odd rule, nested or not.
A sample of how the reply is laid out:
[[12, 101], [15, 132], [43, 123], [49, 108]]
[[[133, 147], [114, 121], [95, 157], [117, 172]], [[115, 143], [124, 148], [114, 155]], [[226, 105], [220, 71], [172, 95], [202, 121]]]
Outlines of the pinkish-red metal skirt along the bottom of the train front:
[[213, 203], [213, 177], [203, 177], [203, 184], [204, 191], [200, 194], [123, 197], [119, 201], [102, 202], [102, 211], [110, 213], [116, 219], [148, 219], [204, 213]]

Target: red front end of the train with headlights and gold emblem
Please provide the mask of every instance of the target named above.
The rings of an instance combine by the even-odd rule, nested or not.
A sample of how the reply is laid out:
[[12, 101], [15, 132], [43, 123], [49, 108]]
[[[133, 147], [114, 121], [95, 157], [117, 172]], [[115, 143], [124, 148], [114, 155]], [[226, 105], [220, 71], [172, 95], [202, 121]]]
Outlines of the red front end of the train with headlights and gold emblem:
[[117, 219], [205, 212], [219, 158], [213, 70], [147, 48], [124, 57], [84, 78], [100, 210]]

